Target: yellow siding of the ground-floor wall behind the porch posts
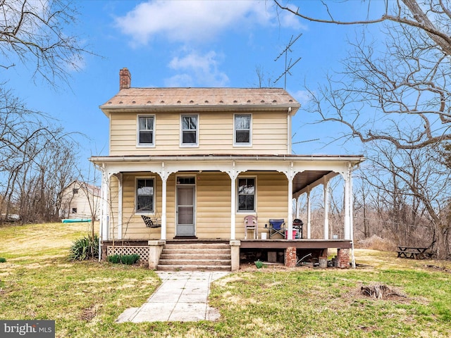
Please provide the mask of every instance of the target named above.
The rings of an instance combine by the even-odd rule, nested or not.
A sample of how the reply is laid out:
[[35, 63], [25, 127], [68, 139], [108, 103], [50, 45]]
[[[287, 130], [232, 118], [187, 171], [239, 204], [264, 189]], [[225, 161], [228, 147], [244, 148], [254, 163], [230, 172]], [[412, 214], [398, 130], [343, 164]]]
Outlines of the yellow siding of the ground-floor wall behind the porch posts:
[[[226, 173], [179, 173], [196, 176], [196, 235], [199, 239], [230, 239], [230, 177]], [[288, 182], [282, 173], [243, 173], [257, 177], [257, 218], [259, 236], [267, 232], [264, 225], [270, 218], [288, 218]], [[123, 239], [159, 239], [161, 227], [148, 228], [141, 215], [135, 215], [136, 177], [156, 180], [156, 216], [161, 217], [161, 179], [152, 173], [123, 175]], [[175, 174], [167, 181], [167, 239], [175, 237]], [[118, 184], [111, 180], [110, 236], [117, 237]], [[249, 213], [252, 214], [252, 213]], [[248, 213], [235, 214], [235, 238], [245, 237], [243, 218]], [[250, 233], [248, 234], [248, 236]], [[249, 237], [248, 237], [249, 238]]]

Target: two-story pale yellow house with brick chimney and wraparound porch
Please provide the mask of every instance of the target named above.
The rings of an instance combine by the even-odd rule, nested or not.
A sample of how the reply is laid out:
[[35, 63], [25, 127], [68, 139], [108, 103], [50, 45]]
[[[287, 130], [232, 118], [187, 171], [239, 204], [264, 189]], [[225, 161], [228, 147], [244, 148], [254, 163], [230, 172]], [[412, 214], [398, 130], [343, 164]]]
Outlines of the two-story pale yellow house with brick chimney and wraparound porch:
[[[109, 156], [91, 161], [103, 177], [104, 246], [149, 246], [157, 268], [168, 244], [223, 242], [232, 270], [245, 248], [283, 249], [293, 265], [299, 248], [351, 247], [350, 176], [363, 157], [292, 155], [299, 103], [284, 89], [133, 88], [123, 68], [120, 91], [100, 108]], [[324, 220], [321, 244], [309, 241], [309, 219], [304, 238], [293, 238], [294, 199], [335, 175], [345, 179], [344, 238], [330, 240]], [[257, 234], [245, 233], [247, 215], [257, 218]], [[266, 236], [270, 219], [284, 220], [285, 238]]]

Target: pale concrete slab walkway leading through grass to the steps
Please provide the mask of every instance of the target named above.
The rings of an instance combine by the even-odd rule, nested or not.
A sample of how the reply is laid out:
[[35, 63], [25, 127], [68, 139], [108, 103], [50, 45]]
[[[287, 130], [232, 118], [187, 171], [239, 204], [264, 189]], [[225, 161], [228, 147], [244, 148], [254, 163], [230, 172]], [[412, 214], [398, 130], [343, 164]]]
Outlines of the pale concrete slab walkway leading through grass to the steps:
[[128, 308], [119, 315], [118, 323], [195, 322], [216, 320], [219, 312], [208, 306], [210, 283], [228, 275], [212, 271], [157, 271], [162, 284], [140, 308]]

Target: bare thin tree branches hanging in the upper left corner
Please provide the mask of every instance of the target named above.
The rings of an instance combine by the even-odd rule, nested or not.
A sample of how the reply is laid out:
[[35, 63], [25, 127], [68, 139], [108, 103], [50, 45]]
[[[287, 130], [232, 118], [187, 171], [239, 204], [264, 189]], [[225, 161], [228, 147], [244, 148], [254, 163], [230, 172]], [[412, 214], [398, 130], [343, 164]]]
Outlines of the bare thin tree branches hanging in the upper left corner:
[[73, 3], [63, 0], [0, 1], [0, 67], [16, 62], [33, 65], [33, 75], [49, 83], [68, 81], [70, 70], [78, 70], [83, 56], [91, 54], [82, 39], [70, 34], [77, 19]]

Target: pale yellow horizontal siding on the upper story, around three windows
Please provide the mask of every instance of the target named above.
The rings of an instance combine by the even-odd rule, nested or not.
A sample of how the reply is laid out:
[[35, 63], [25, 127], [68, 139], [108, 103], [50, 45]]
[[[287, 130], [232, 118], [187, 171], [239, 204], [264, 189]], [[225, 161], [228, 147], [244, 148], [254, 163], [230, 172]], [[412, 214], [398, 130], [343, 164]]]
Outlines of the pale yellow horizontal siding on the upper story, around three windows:
[[180, 147], [180, 113], [149, 115], [155, 115], [154, 147], [137, 146], [136, 113], [111, 114], [110, 155], [287, 153], [287, 113], [253, 112], [252, 146], [233, 146], [233, 112], [199, 113], [196, 147]]

